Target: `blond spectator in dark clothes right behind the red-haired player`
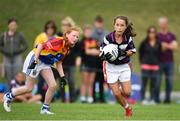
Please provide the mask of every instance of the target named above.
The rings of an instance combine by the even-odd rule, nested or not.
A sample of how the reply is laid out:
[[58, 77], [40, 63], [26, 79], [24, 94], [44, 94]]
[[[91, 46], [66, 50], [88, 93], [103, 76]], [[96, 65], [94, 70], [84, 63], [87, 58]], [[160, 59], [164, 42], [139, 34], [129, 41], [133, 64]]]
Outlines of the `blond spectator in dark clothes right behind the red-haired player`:
[[[75, 22], [71, 17], [65, 17], [61, 21], [61, 32], [57, 33], [58, 36], [63, 36], [63, 33], [69, 28], [74, 27]], [[77, 44], [76, 44], [77, 45]], [[61, 88], [61, 96], [63, 102], [74, 102], [76, 100], [76, 89], [75, 89], [75, 60], [77, 57], [77, 46], [70, 50], [63, 61], [63, 69], [68, 79], [68, 85], [65, 88]]]

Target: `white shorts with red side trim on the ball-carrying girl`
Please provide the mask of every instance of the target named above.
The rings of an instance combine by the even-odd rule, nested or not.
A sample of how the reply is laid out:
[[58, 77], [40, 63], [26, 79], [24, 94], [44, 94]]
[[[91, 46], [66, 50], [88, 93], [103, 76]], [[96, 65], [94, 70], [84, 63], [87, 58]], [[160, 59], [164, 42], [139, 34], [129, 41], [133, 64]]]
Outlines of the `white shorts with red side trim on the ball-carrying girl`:
[[129, 64], [114, 65], [107, 61], [103, 62], [104, 79], [107, 83], [127, 82], [131, 80]]

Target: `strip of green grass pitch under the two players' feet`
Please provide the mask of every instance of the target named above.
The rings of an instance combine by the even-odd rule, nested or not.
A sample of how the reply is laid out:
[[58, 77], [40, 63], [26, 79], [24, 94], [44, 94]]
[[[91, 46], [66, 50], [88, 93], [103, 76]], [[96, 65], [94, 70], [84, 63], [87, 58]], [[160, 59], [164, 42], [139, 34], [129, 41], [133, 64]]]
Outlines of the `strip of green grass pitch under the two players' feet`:
[[14, 103], [13, 111], [7, 113], [0, 104], [0, 120], [180, 120], [180, 105], [134, 105], [132, 118], [124, 118], [118, 104], [62, 104], [54, 103], [51, 111], [55, 115], [39, 114], [41, 105]]

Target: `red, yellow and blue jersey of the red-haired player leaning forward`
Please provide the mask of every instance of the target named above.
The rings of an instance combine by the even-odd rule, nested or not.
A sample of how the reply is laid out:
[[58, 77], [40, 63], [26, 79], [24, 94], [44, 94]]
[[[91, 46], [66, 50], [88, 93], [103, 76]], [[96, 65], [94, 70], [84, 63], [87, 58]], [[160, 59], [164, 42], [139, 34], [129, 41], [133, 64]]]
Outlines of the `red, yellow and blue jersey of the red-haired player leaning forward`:
[[[35, 45], [38, 44], [43, 45], [39, 59], [48, 65], [53, 65], [58, 61], [62, 61], [69, 52], [69, 48], [65, 46], [65, 40], [63, 37], [55, 36], [48, 40], [42, 39], [35, 42]], [[34, 48], [33, 51], [35, 52], [36, 48]]]

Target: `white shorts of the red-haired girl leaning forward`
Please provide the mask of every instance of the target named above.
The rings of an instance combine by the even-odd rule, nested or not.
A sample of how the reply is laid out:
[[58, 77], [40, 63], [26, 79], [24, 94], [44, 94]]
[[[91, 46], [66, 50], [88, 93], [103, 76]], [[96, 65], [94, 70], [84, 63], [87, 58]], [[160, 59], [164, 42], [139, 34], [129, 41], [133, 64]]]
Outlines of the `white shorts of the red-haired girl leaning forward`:
[[23, 72], [32, 78], [36, 78], [42, 69], [50, 69], [51, 68], [51, 65], [47, 65], [47, 64], [43, 63], [42, 61], [38, 60], [38, 63], [34, 69], [28, 69], [28, 66], [33, 61], [34, 61], [34, 52], [31, 51], [27, 55], [26, 60], [24, 61]]

